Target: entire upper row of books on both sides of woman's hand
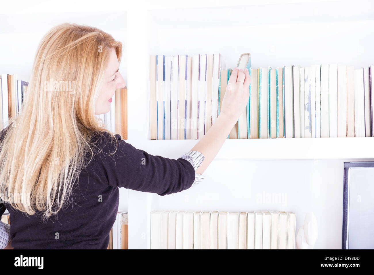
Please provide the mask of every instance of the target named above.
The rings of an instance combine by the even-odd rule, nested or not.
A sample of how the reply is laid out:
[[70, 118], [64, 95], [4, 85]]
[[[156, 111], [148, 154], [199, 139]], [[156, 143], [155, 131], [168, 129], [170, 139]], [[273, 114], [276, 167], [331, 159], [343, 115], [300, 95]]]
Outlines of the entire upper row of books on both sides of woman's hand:
[[[223, 67], [220, 54], [150, 57], [151, 140], [200, 139], [209, 130], [232, 73]], [[249, 73], [248, 104], [227, 138], [373, 137], [371, 67], [251, 67]]]

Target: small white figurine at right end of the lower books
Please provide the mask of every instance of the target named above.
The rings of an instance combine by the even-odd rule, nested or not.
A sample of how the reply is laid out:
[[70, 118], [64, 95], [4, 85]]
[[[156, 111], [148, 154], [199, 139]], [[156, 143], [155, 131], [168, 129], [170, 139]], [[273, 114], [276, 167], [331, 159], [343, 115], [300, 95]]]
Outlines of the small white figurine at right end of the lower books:
[[304, 225], [300, 226], [297, 231], [296, 247], [297, 249], [313, 249], [316, 239], [318, 239], [317, 220], [313, 212], [308, 212]]

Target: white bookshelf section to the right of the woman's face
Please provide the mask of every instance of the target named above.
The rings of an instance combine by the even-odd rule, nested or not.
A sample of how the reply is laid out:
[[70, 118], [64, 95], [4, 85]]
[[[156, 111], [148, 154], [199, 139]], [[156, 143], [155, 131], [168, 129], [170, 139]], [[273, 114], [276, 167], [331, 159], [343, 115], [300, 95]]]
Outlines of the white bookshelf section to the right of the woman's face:
[[[179, 158], [198, 140], [150, 140], [149, 68], [144, 68], [150, 55], [219, 52], [230, 68], [243, 52], [251, 53], [254, 68], [330, 63], [359, 68], [374, 63], [370, 1], [200, 2], [129, 8], [128, 66], [136, 69], [128, 79], [129, 89], [137, 90], [129, 93], [129, 143], [152, 155]], [[373, 141], [226, 140], [198, 186], [167, 196], [129, 190], [129, 248], [150, 248], [153, 210], [262, 210], [294, 211], [296, 229], [313, 211], [319, 229], [315, 248], [340, 249], [343, 163], [373, 161]], [[286, 203], [263, 199], [276, 195]]]

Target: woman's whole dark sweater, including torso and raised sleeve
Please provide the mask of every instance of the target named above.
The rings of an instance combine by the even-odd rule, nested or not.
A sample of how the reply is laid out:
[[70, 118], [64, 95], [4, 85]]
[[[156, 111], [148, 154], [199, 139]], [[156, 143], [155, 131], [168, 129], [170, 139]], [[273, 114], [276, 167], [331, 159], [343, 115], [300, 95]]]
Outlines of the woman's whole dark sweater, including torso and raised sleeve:
[[9, 203], [0, 204], [0, 216], [5, 207], [10, 213], [14, 249], [106, 249], [118, 210], [118, 187], [163, 196], [186, 190], [195, 180], [195, 170], [186, 159], [149, 155], [121, 140], [120, 135], [116, 135], [117, 152], [110, 156], [114, 145], [108, 143], [107, 133], [100, 137], [95, 144], [102, 152], [80, 172], [73, 189], [74, 203], [56, 217], [43, 223], [39, 213], [30, 216]]

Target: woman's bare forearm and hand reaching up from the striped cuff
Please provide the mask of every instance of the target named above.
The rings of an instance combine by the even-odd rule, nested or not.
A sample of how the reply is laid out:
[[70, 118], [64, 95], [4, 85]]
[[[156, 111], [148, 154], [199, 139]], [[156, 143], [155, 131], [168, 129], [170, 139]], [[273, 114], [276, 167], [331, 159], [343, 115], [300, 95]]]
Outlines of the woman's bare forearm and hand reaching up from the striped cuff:
[[204, 155], [204, 160], [196, 173], [203, 174], [243, 113], [249, 100], [250, 83], [251, 77], [247, 69], [244, 71], [233, 69], [222, 102], [222, 111], [209, 131], [191, 149]]

